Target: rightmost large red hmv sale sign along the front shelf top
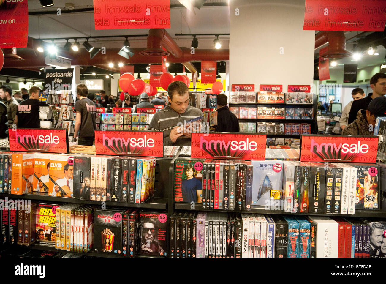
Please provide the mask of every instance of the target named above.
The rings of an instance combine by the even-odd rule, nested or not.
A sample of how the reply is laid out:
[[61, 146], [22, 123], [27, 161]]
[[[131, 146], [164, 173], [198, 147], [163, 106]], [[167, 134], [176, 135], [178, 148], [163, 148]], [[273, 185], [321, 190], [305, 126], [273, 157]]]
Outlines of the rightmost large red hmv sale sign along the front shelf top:
[[301, 162], [375, 163], [378, 137], [302, 135]]

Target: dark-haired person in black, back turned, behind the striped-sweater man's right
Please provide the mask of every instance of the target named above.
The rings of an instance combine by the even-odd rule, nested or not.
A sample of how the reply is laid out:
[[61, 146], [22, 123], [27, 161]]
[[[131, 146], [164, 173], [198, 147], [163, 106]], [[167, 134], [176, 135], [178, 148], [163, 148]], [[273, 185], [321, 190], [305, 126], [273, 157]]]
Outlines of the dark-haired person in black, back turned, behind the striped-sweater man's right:
[[228, 97], [224, 94], [217, 95], [217, 126], [216, 132], [239, 132], [239, 121], [227, 107]]

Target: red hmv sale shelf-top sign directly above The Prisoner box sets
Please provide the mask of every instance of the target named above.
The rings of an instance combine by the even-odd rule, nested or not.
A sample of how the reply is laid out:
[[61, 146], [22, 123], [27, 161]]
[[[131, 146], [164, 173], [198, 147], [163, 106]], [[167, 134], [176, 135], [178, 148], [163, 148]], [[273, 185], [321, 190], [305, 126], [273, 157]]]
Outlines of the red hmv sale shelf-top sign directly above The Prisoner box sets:
[[97, 155], [164, 156], [162, 131], [101, 131], [95, 130]]

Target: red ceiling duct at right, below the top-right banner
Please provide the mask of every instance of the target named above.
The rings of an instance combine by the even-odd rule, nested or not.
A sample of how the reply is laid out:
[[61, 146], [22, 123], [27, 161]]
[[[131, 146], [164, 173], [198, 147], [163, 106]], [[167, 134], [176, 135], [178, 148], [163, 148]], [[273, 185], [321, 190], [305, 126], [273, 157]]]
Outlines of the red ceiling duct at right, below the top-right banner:
[[315, 35], [315, 49], [328, 43], [328, 51], [319, 54], [325, 58], [344, 58], [351, 55], [346, 50], [346, 37], [341, 31], [322, 31]]

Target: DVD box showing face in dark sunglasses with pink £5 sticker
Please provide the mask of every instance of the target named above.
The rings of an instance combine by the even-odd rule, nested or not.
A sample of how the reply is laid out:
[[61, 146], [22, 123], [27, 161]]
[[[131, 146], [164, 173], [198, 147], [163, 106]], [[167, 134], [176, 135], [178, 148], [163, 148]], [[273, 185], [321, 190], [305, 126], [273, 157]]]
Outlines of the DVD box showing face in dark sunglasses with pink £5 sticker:
[[139, 255], [167, 256], [166, 238], [168, 235], [168, 216], [165, 213], [139, 213], [137, 239]]

